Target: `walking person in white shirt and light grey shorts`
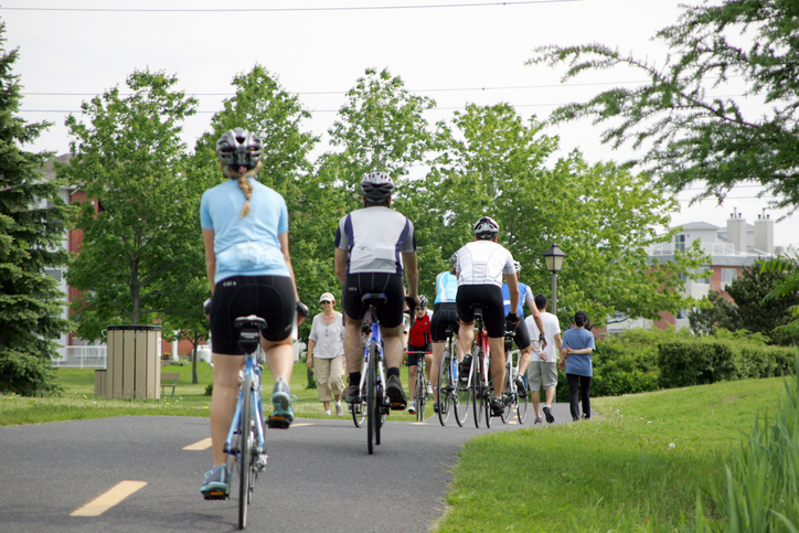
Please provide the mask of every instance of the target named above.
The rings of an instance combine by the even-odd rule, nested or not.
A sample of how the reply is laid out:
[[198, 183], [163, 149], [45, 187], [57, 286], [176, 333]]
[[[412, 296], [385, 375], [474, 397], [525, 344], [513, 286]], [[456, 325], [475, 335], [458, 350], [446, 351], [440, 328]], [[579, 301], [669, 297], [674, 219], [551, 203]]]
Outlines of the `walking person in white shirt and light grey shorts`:
[[[555, 417], [552, 415], [552, 402], [555, 399], [555, 387], [557, 386], [557, 354], [561, 351], [561, 323], [557, 317], [551, 312], [546, 312], [546, 297], [544, 295], [535, 295], [535, 307], [539, 309], [541, 320], [544, 323], [544, 337], [546, 345], [541, 348], [540, 341], [532, 341], [532, 355], [530, 365], [528, 366], [528, 383], [533, 392], [533, 407], [535, 408], [535, 424], [541, 424], [541, 404], [540, 395], [541, 385], [544, 385], [546, 395], [546, 404], [544, 404], [544, 416], [546, 422], [552, 424]], [[539, 338], [539, 327], [532, 316], [524, 319], [528, 324], [528, 331], [531, 339]]]

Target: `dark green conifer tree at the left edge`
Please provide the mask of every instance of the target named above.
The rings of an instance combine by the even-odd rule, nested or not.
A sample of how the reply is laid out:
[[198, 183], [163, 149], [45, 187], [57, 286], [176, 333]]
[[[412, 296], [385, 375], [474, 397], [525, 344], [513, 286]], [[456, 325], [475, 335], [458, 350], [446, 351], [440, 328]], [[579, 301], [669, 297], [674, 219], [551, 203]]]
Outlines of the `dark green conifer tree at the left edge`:
[[57, 391], [50, 360], [52, 340], [70, 330], [60, 318], [64, 295], [45, 268], [66, 264], [61, 247], [67, 207], [58, 182], [39, 171], [49, 153], [20, 147], [49, 125], [14, 116], [22, 97], [12, 72], [18, 51], [6, 51], [0, 23], [0, 393], [40, 395]]

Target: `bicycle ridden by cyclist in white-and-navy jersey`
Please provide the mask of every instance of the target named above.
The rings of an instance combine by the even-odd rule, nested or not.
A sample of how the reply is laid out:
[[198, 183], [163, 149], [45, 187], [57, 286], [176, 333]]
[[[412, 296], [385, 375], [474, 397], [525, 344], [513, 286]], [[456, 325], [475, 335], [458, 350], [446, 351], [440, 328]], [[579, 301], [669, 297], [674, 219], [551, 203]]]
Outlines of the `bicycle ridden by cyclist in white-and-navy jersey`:
[[[369, 343], [363, 350], [363, 365], [361, 382], [359, 383], [360, 401], [351, 404], [354, 412], [359, 405], [365, 404], [366, 408], [366, 448], [369, 454], [374, 454], [374, 447], [380, 445], [380, 431], [391, 411], [388, 398], [385, 394], [385, 362], [383, 359], [383, 337], [380, 333], [380, 320], [377, 307], [388, 301], [383, 294], [363, 295], [361, 301], [369, 306], [372, 316], [372, 334]], [[355, 420], [358, 422], [358, 420]]]

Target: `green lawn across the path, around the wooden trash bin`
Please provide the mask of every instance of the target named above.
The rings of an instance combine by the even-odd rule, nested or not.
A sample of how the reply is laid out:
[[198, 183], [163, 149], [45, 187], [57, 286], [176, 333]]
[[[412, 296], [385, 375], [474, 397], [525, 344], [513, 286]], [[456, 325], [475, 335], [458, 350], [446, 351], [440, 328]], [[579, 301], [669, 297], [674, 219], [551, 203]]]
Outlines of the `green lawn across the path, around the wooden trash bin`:
[[[206, 386], [213, 381], [213, 371], [207, 363], [198, 364], [196, 385], [192, 384], [192, 367], [162, 366], [162, 372], [179, 372], [180, 379], [171, 398], [171, 387], [161, 399], [107, 399], [94, 395], [93, 369], [57, 369], [56, 382], [64, 387], [60, 396], [20, 397], [0, 395], [0, 426], [20, 424], [44, 424], [49, 422], [108, 418], [129, 415], [209, 416], [211, 396], [205, 396]], [[403, 383], [407, 384], [407, 366], [403, 369]], [[265, 383], [271, 383], [271, 374], [265, 372]], [[301, 418], [324, 418], [322, 404], [316, 388], [308, 385], [306, 364], [297, 363], [291, 375], [291, 393], [297, 395], [295, 415]], [[270, 387], [264, 386], [265, 390]], [[268, 403], [264, 404], [268, 408]], [[430, 415], [433, 409], [430, 408]], [[347, 409], [344, 415], [349, 416]], [[415, 420], [407, 413], [391, 414], [393, 420]]]

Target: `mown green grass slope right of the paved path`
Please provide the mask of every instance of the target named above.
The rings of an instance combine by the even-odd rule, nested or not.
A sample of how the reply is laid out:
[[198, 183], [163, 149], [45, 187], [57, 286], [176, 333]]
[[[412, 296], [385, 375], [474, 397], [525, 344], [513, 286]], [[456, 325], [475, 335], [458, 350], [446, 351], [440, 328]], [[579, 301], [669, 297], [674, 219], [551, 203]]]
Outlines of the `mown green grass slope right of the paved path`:
[[697, 491], [722, 479], [784, 383], [596, 398], [601, 419], [475, 438], [434, 531], [693, 531]]

